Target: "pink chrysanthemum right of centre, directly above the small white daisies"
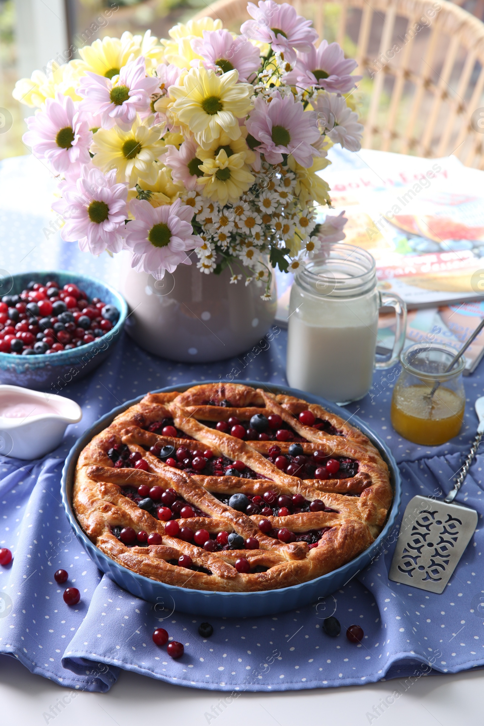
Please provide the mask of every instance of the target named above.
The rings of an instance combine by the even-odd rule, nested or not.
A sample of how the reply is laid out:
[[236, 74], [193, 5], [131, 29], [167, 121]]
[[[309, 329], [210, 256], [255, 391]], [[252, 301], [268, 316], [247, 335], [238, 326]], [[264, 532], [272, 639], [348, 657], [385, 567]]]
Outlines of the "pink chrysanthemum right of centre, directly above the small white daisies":
[[316, 114], [303, 110], [292, 94], [282, 98], [276, 91], [270, 103], [261, 96], [255, 99], [254, 110], [247, 119], [247, 131], [261, 142], [256, 147], [270, 164], [282, 162], [283, 154], [292, 154], [301, 166], [310, 167], [319, 152], [311, 147], [319, 139]]

